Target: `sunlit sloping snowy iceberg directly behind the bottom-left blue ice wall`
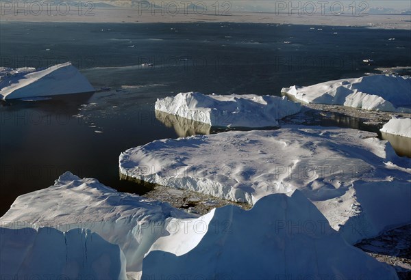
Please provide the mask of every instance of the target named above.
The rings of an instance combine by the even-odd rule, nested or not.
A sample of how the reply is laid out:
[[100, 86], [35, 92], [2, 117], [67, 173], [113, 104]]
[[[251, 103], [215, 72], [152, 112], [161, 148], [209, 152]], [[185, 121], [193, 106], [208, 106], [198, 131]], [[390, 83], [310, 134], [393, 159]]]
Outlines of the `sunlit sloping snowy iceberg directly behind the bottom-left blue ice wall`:
[[0, 223], [15, 229], [90, 229], [118, 244], [127, 259], [127, 272], [138, 272], [144, 254], [164, 234], [160, 229], [165, 219], [193, 216], [169, 204], [119, 193], [95, 179], [80, 179], [66, 172], [54, 186], [17, 197]]

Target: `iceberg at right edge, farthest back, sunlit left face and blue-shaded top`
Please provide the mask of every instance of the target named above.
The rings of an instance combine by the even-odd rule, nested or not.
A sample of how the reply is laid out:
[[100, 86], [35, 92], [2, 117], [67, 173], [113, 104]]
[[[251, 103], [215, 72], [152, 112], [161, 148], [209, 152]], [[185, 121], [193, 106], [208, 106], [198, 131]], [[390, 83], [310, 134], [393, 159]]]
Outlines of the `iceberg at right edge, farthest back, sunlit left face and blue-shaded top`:
[[376, 74], [327, 81], [308, 87], [292, 86], [282, 92], [307, 103], [339, 104], [374, 111], [409, 113], [411, 77]]

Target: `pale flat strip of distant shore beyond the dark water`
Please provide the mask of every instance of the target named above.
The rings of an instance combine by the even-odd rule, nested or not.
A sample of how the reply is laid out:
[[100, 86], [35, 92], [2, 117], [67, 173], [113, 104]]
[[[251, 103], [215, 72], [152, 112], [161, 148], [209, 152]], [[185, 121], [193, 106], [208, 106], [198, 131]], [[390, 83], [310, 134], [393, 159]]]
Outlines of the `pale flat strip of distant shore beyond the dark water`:
[[[70, 6], [73, 7], [73, 6]], [[411, 30], [410, 14], [291, 14], [232, 12], [230, 14], [213, 14], [212, 12], [195, 14], [167, 14], [157, 12], [140, 12], [138, 9], [126, 8], [93, 8], [87, 10], [74, 7], [66, 14], [42, 12], [0, 10], [0, 22], [51, 22], [51, 23], [266, 23], [279, 25], [332, 25], [349, 27], [369, 27], [376, 29]]]

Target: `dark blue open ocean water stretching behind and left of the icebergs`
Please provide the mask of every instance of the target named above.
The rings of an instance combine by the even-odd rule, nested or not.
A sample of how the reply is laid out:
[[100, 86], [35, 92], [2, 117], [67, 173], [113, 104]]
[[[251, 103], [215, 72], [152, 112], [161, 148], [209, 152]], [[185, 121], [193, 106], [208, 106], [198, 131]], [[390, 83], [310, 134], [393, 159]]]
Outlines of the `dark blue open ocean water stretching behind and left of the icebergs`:
[[111, 89], [0, 103], [0, 214], [18, 195], [50, 186], [64, 171], [143, 193], [119, 181], [118, 157], [177, 137], [155, 119], [156, 98], [189, 91], [279, 95], [290, 85], [410, 66], [410, 49], [410, 31], [354, 27], [1, 23], [0, 66], [72, 61], [94, 87]]

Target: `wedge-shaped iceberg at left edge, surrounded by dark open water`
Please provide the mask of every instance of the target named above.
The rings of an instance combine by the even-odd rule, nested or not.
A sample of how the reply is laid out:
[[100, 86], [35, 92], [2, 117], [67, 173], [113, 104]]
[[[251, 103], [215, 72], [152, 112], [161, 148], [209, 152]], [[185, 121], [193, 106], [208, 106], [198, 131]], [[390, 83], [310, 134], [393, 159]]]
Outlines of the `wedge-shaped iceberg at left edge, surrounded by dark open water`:
[[85, 76], [70, 62], [35, 70], [0, 71], [0, 96], [3, 99], [80, 94], [94, 92]]

